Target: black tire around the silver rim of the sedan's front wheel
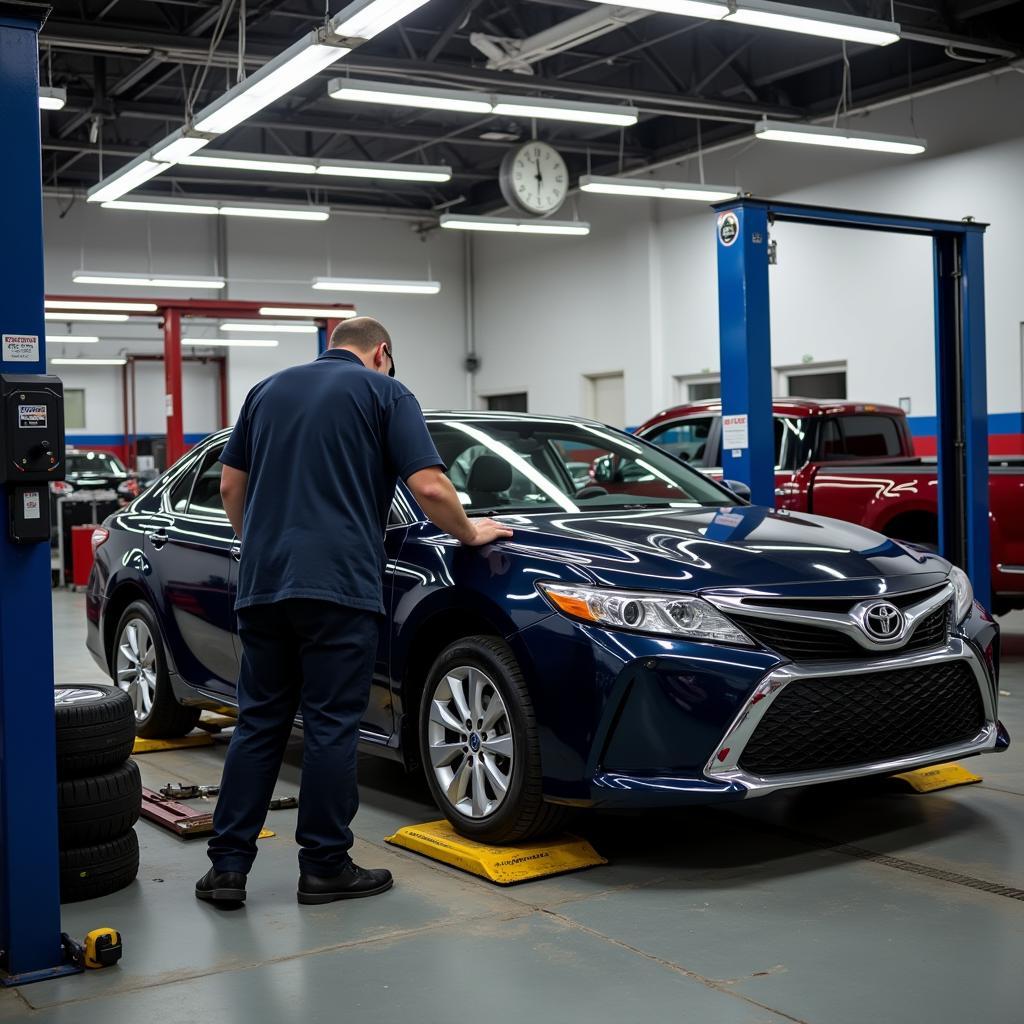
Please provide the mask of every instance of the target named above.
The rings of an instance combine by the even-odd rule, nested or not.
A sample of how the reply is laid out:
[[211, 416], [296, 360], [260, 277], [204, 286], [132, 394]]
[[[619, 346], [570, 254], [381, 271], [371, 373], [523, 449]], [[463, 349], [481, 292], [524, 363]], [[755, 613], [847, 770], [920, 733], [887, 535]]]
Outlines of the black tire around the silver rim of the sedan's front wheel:
[[[468, 650], [466, 653], [473, 657], [475, 652], [473, 646], [479, 645], [484, 648], [487, 654], [494, 658], [498, 667], [502, 670], [504, 684], [509, 696], [518, 705], [518, 709], [524, 719], [524, 745], [526, 749], [526, 770], [522, 780], [522, 787], [517, 798], [517, 810], [512, 815], [512, 820], [496, 822], [474, 822], [467, 825], [461, 818], [450, 814], [446, 810], [446, 801], [440, 798], [437, 793], [437, 783], [433, 777], [433, 769], [430, 766], [430, 755], [426, 750], [426, 716], [428, 713], [429, 695], [432, 689], [432, 682], [437, 678], [440, 666], [450, 658], [455, 657], [460, 649]], [[464, 655], [465, 656], [465, 655]], [[477, 655], [478, 659], [478, 655]], [[511, 709], [510, 713], [511, 713]], [[543, 776], [541, 773], [541, 743], [537, 728], [537, 716], [534, 714], [534, 702], [529, 698], [529, 690], [526, 681], [523, 679], [519, 663], [515, 659], [508, 644], [498, 637], [471, 636], [457, 640], [447, 646], [438, 655], [430, 669], [427, 677], [427, 685], [424, 687], [423, 700], [420, 709], [420, 745], [424, 771], [427, 774], [427, 783], [437, 802], [438, 807], [444, 812], [445, 817], [455, 828], [466, 836], [467, 839], [476, 840], [483, 843], [495, 843], [505, 845], [511, 843], [536, 840], [550, 835], [559, 829], [565, 821], [566, 808], [557, 804], [549, 804], [544, 800]], [[516, 799], [513, 794], [513, 799]], [[506, 808], [501, 808], [497, 814], [504, 818], [503, 813]]]

